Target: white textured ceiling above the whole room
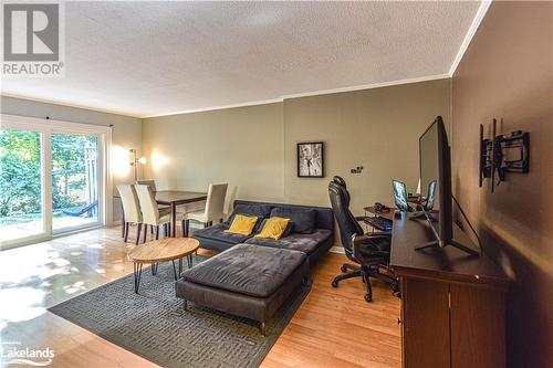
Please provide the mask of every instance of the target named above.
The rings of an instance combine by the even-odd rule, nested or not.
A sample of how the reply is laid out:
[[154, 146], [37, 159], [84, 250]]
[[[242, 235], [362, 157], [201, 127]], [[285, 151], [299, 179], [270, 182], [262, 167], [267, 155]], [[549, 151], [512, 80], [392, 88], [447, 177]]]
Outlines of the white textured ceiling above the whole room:
[[66, 2], [65, 77], [2, 93], [133, 116], [442, 75], [479, 2]]

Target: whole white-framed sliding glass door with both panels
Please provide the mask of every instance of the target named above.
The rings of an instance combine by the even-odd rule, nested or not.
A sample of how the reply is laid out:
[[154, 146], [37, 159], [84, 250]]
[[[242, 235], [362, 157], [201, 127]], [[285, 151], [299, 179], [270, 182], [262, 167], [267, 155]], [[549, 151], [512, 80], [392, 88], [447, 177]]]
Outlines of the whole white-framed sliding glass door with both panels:
[[1, 249], [111, 221], [108, 127], [1, 117]]

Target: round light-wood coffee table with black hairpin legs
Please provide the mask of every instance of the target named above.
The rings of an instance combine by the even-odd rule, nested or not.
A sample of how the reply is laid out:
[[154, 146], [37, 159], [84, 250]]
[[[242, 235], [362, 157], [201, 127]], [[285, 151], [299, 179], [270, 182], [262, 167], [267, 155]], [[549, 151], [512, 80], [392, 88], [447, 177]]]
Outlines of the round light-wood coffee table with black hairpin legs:
[[135, 293], [138, 294], [140, 286], [143, 264], [152, 264], [152, 274], [157, 273], [160, 262], [173, 262], [173, 273], [177, 281], [177, 269], [175, 261], [178, 260], [178, 274], [182, 272], [182, 259], [188, 260], [188, 267], [192, 266], [192, 253], [200, 246], [200, 242], [191, 238], [165, 238], [145, 244], [137, 245], [128, 252], [128, 259], [133, 261], [135, 275]]

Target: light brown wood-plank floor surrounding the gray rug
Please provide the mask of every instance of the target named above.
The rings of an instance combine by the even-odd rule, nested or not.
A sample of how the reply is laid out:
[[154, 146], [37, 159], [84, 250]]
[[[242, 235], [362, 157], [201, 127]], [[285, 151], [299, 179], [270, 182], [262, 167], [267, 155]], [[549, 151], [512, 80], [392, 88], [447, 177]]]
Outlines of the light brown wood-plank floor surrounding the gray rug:
[[[0, 341], [50, 347], [54, 367], [156, 367], [46, 312], [132, 273], [132, 246], [112, 228], [0, 252]], [[363, 299], [361, 278], [331, 287], [345, 261], [331, 253], [313, 271], [311, 293], [261, 367], [400, 366], [399, 299], [377, 281], [372, 303]]]

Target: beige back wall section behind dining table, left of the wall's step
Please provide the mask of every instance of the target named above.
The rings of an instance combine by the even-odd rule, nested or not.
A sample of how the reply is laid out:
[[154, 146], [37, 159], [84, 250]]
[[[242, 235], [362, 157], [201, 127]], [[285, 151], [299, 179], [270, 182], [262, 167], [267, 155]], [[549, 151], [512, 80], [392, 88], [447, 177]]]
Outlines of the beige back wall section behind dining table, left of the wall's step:
[[282, 103], [146, 118], [146, 176], [160, 189], [238, 186], [238, 198], [284, 200]]

